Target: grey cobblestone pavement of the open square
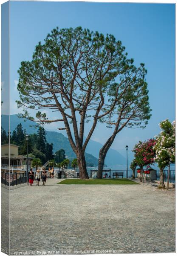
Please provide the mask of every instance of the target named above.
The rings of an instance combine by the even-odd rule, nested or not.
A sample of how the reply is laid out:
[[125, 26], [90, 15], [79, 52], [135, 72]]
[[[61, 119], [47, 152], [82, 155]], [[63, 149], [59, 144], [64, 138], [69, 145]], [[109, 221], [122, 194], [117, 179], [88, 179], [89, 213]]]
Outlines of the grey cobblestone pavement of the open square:
[[175, 251], [171, 189], [57, 182], [11, 190], [11, 254]]

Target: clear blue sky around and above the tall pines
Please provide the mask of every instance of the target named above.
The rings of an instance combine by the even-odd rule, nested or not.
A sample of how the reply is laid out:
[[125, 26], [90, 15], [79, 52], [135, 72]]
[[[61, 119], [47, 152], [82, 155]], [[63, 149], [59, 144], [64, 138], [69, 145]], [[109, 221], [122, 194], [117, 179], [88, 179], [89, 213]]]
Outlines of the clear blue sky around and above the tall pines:
[[[145, 129], [121, 131], [112, 148], [125, 154], [138, 140], [160, 132], [158, 123], [175, 119], [175, 5], [146, 3], [18, 2], [11, 7], [11, 114], [18, 113], [17, 70], [20, 62], [31, 60], [34, 47], [59, 26], [82, 26], [113, 34], [126, 47], [135, 64], [145, 63], [152, 117]], [[46, 129], [55, 130], [54, 126]], [[101, 132], [102, 131], [102, 132]], [[85, 134], [88, 132], [86, 126]], [[97, 125], [92, 139], [100, 143], [111, 134]], [[131, 157], [131, 155], [130, 155]]]

